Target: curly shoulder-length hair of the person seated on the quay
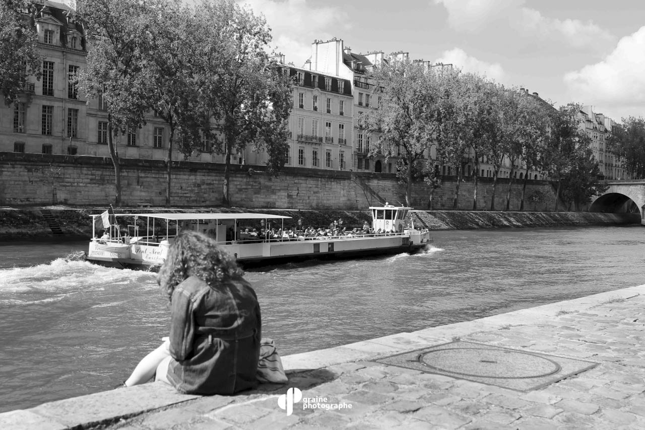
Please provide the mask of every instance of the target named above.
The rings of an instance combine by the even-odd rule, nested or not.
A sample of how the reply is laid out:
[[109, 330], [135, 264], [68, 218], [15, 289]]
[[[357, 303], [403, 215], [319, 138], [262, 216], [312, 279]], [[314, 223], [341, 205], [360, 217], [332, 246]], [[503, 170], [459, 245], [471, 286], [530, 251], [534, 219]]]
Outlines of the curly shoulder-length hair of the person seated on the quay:
[[172, 300], [175, 287], [190, 276], [197, 276], [214, 289], [219, 283], [243, 274], [235, 259], [215, 240], [200, 232], [185, 230], [170, 245], [157, 283], [168, 300]]

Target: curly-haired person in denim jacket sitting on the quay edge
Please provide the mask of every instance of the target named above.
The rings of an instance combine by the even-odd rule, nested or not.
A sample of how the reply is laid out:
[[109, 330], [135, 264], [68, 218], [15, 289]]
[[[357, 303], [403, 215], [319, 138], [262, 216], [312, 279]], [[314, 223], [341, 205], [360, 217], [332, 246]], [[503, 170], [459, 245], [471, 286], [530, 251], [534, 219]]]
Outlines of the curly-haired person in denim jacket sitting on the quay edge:
[[124, 385], [156, 380], [184, 394], [232, 394], [257, 385], [261, 317], [257, 296], [213, 238], [181, 232], [157, 282], [171, 306], [170, 337]]

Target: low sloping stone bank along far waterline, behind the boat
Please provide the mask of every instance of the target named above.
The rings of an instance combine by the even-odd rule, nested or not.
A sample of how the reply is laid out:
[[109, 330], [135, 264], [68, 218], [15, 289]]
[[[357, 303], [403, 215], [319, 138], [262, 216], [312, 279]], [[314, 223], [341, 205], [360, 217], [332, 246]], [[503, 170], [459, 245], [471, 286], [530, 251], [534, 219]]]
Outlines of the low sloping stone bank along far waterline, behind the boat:
[[[3, 207], [0, 208], [0, 238], [38, 238], [51, 236], [88, 236], [92, 234], [93, 214], [99, 207]], [[116, 208], [115, 213], [145, 214], [154, 212], [262, 212], [290, 216], [284, 227], [324, 227], [333, 220], [343, 220], [348, 229], [371, 222], [367, 210], [295, 210], [248, 208]], [[489, 212], [466, 210], [415, 210], [415, 227], [430, 230], [495, 229], [504, 227], [582, 227], [591, 225], [639, 224], [639, 214], [600, 212]], [[421, 224], [421, 225], [419, 225]], [[278, 227], [282, 227], [281, 225]]]

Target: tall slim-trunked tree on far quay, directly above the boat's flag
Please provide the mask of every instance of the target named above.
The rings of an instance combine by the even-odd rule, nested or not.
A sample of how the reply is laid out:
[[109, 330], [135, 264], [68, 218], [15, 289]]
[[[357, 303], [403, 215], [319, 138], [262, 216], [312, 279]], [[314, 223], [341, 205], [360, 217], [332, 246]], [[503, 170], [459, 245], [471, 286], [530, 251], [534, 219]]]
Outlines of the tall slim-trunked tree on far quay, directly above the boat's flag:
[[90, 39], [87, 66], [79, 72], [79, 89], [89, 98], [101, 96], [106, 102], [117, 207], [121, 205], [121, 163], [113, 138], [119, 130], [141, 127], [150, 105], [148, 53], [157, 22], [149, 4], [84, 0], [77, 8]]

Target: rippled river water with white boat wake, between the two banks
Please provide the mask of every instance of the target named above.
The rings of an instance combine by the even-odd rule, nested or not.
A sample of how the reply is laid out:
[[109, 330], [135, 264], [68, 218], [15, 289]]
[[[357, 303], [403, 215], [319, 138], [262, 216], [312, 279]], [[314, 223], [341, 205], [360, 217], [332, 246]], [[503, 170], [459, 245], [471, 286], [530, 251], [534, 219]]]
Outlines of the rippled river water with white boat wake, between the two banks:
[[[645, 283], [645, 229], [446, 230], [415, 255], [248, 272], [281, 354]], [[66, 258], [86, 241], [0, 242], [0, 412], [110, 389], [167, 335], [155, 274]]]

